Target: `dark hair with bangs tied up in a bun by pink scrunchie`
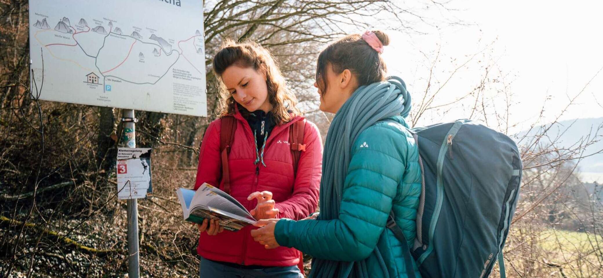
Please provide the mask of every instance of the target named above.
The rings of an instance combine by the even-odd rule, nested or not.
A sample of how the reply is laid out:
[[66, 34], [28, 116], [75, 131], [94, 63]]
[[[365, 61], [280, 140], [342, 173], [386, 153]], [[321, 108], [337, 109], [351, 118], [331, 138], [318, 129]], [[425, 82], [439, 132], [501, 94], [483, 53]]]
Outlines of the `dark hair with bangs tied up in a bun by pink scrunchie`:
[[[372, 31], [384, 46], [390, 44], [390, 37], [383, 31]], [[323, 94], [327, 90], [326, 72], [331, 65], [337, 74], [349, 69], [358, 80], [358, 86], [385, 81], [387, 66], [379, 54], [362, 39], [361, 34], [343, 37], [327, 46], [318, 55], [316, 64], [316, 82], [321, 86]]]

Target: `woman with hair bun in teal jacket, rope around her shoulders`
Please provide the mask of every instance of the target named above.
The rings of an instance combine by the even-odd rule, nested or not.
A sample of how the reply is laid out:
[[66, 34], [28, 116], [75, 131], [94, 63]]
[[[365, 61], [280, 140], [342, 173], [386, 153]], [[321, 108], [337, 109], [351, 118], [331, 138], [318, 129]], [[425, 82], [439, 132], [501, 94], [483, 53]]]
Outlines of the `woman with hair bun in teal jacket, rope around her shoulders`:
[[[421, 277], [412, 247], [421, 194], [418, 148], [402, 79], [387, 77], [382, 31], [353, 34], [318, 56], [320, 109], [335, 113], [323, 155], [316, 220], [260, 220], [251, 235], [267, 249], [314, 257], [309, 277]], [[402, 229], [400, 242], [388, 217]]]

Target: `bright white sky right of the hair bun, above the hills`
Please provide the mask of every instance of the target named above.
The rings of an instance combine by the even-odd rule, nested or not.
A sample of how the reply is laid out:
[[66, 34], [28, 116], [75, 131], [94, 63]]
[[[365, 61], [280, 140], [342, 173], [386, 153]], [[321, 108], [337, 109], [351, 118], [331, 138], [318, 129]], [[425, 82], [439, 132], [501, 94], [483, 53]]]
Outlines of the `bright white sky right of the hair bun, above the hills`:
[[[452, 7], [461, 10], [453, 15], [471, 25], [424, 26], [421, 31], [425, 35], [390, 32], [392, 42], [384, 54], [388, 67], [405, 79], [415, 92], [413, 96], [425, 91], [430, 61], [438, 49], [434, 77], [440, 82], [466, 61], [467, 55], [478, 53], [443, 88], [436, 104], [467, 94], [478, 85], [484, 66], [495, 64], [489, 76], [496, 78], [502, 72], [508, 91], [513, 93], [510, 119], [520, 123], [514, 128], [517, 131], [537, 118], [547, 98], [545, 122], [554, 120], [569, 97], [576, 96], [603, 68], [603, 4], [599, 1], [469, 0], [453, 2]], [[440, 11], [431, 14], [437, 17]], [[496, 93], [496, 88], [502, 88], [500, 83], [489, 90], [490, 96], [497, 95], [494, 107], [504, 107], [504, 94]], [[603, 70], [561, 119], [602, 117], [603, 107], [596, 101], [603, 105]], [[458, 108], [433, 111], [429, 116], [454, 120], [469, 114], [467, 109]]]

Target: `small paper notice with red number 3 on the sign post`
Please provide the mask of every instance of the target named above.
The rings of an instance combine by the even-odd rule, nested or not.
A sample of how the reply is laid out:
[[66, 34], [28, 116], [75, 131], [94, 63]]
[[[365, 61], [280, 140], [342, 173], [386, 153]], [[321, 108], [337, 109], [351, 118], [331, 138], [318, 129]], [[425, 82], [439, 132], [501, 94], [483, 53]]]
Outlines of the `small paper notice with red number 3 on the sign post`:
[[117, 190], [120, 200], [153, 196], [151, 148], [118, 148]]

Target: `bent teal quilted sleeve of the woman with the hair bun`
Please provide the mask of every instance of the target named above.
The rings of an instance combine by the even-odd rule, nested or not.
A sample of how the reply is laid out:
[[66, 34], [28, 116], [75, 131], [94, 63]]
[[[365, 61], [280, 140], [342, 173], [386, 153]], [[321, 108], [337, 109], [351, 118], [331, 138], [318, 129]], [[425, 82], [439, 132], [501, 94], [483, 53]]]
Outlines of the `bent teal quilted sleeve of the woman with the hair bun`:
[[[352, 146], [339, 217], [333, 220], [282, 219], [274, 235], [281, 246], [315, 258], [367, 258], [385, 229], [397, 185], [405, 169], [408, 143], [386, 124], [367, 128]], [[333, 200], [334, 202], [334, 200]]]

